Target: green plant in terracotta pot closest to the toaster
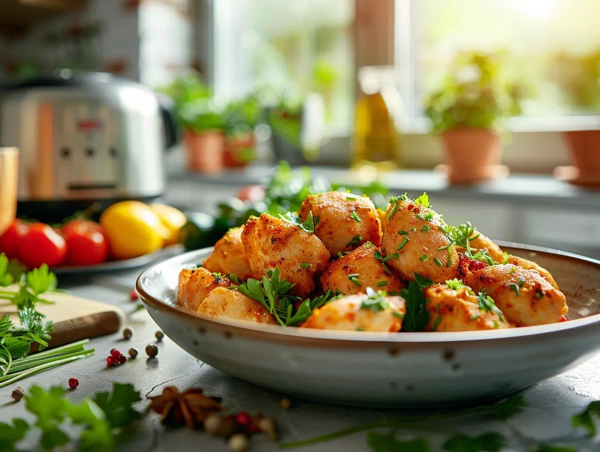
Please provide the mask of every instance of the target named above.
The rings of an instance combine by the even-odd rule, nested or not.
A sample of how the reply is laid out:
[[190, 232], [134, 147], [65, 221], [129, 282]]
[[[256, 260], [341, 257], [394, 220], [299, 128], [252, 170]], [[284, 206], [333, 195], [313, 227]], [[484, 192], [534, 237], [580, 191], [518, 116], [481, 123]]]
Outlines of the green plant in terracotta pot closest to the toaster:
[[188, 169], [219, 172], [223, 169], [225, 143], [223, 106], [195, 73], [176, 80], [164, 92], [175, 101], [176, 115], [184, 129]]

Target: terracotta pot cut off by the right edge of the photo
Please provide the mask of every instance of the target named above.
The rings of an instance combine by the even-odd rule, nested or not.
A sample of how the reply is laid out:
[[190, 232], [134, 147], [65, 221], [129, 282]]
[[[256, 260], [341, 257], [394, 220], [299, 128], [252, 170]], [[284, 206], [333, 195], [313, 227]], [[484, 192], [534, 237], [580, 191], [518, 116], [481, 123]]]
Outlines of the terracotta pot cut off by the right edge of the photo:
[[600, 130], [574, 130], [564, 134], [571, 148], [571, 161], [577, 167], [572, 182], [600, 185]]

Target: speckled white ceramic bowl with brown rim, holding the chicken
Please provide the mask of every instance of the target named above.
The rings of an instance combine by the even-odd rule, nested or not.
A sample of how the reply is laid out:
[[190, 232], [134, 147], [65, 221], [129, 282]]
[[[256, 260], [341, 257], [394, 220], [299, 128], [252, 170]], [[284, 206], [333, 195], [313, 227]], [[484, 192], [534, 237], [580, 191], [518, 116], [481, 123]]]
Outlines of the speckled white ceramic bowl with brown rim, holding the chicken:
[[499, 243], [547, 268], [569, 322], [463, 333], [309, 330], [197, 315], [176, 306], [179, 271], [212, 249], [160, 262], [137, 291], [167, 336], [196, 358], [289, 396], [360, 406], [445, 406], [497, 399], [600, 351], [600, 262]]

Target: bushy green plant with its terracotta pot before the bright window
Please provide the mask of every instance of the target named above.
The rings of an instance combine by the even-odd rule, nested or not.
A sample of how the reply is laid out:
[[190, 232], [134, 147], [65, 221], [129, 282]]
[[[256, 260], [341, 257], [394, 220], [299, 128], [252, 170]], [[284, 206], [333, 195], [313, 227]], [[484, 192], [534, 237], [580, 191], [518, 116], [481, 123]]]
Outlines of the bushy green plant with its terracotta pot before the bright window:
[[501, 55], [457, 57], [440, 89], [425, 102], [434, 133], [442, 134], [449, 181], [496, 177], [502, 155], [500, 122], [521, 113], [524, 97], [524, 86], [508, 82], [503, 73]]

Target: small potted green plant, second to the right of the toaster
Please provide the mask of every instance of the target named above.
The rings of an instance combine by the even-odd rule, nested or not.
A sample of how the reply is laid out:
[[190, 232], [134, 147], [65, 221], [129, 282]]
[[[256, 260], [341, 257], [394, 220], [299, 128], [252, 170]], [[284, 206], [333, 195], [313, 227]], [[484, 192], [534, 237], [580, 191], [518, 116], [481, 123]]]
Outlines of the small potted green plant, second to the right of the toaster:
[[254, 127], [262, 107], [255, 95], [230, 102], [224, 112], [226, 167], [242, 167], [255, 158]]

